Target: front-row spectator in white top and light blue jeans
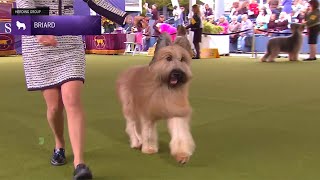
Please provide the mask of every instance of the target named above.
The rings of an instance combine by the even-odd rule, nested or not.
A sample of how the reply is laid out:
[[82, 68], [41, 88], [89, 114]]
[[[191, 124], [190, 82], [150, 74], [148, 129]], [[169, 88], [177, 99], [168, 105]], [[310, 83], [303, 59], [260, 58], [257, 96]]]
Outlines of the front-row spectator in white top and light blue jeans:
[[253, 35], [253, 23], [251, 22], [250, 19], [248, 19], [247, 14], [243, 14], [241, 16], [242, 21], [241, 21], [241, 31], [245, 31], [240, 33], [240, 36], [238, 37], [238, 43], [237, 43], [237, 49], [238, 51], [243, 51], [246, 45], [246, 38], [251, 38]]

